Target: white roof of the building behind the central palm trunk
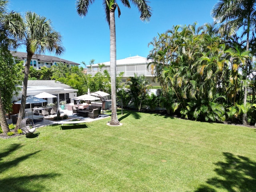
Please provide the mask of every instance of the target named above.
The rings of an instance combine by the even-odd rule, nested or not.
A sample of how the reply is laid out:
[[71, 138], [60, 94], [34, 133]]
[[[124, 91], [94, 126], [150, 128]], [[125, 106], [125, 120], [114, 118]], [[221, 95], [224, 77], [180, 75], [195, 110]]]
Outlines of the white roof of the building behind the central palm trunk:
[[[146, 57], [133, 56], [133, 57], [116, 60], [116, 65], [148, 64], [149, 62], [152, 62], [152, 60], [147, 60]], [[105, 66], [110, 66], [110, 61], [104, 62], [104, 63], [93, 64], [92, 66], [95, 67], [95, 66], [98, 66], [98, 64], [104, 64]], [[89, 67], [89, 66], [90, 65], [86, 65], [86, 67]]]

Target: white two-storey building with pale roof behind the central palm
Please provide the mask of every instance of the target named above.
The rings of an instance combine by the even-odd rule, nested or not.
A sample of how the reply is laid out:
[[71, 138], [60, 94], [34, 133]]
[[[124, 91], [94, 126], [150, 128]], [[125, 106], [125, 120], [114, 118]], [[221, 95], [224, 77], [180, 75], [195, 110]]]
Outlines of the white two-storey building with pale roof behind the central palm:
[[[123, 82], [126, 82], [128, 77], [134, 76], [134, 73], [136, 73], [137, 76], [144, 75], [152, 86], [159, 86], [159, 84], [154, 82], [154, 76], [152, 75], [150, 67], [148, 68], [148, 64], [150, 62], [152, 62], [152, 60], [147, 60], [147, 58], [141, 56], [133, 56], [116, 60], [116, 74], [118, 75], [120, 72], [124, 72], [122, 79]], [[102, 64], [104, 65], [100, 69]], [[97, 72], [103, 72], [104, 70], [107, 70], [110, 73], [110, 62], [86, 65], [86, 68], [87, 74], [92, 74], [92, 76], [94, 76]]]

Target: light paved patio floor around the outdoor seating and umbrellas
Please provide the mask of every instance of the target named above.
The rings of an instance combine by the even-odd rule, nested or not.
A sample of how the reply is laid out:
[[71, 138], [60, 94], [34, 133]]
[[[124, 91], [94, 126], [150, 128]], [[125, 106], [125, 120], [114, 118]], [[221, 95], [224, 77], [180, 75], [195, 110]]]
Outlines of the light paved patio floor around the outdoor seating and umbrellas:
[[[68, 115], [68, 119], [61, 120], [61, 121], [52, 120], [52, 118], [56, 115], [45, 116], [43, 121], [35, 122], [36, 128], [43, 127], [46, 125], [64, 124], [65, 122], [68, 122], [68, 121], [74, 120], [74, 119], [78, 120], [78, 121], [75, 121], [74, 123], [84, 123], [84, 122], [92, 122], [92, 121], [96, 121], [96, 120], [100, 120], [100, 119], [104, 119], [104, 118], [110, 118], [110, 116], [101, 114], [101, 115], [99, 115], [98, 118], [92, 119], [92, 118], [81, 117], [81, 116], [77, 116], [76, 114], [72, 114], [71, 110], [67, 110], [67, 109], [60, 110], [60, 116], [63, 116], [64, 114]], [[8, 118], [6, 118], [6, 119], [7, 119], [8, 124], [12, 123], [12, 116], [10, 116], [10, 119], [8, 119]]]

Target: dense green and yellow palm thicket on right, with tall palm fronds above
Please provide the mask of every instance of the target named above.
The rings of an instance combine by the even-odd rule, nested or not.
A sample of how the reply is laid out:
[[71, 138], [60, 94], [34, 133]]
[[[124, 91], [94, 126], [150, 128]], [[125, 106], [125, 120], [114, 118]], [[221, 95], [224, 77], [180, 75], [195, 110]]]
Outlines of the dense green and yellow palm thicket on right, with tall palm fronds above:
[[[152, 70], [156, 82], [162, 86], [162, 97], [167, 112], [177, 112], [182, 117], [194, 120], [223, 121], [238, 120], [244, 123], [244, 116], [255, 123], [255, 96], [248, 103], [247, 87], [255, 94], [254, 81], [249, 78], [254, 73], [253, 50], [255, 14], [246, 12], [244, 19], [226, 14], [230, 4], [240, 14], [255, 1], [221, 0], [212, 10], [214, 18], [220, 23], [196, 26], [173, 26], [155, 37], [149, 46], [152, 59], [148, 68]], [[247, 3], [251, 2], [250, 5]], [[224, 8], [226, 6], [226, 8]], [[234, 13], [236, 14], [236, 12]], [[250, 19], [249, 19], [250, 18]], [[235, 20], [235, 21], [234, 21]], [[251, 20], [251, 26], [248, 24]], [[236, 24], [235, 24], [236, 22]], [[236, 26], [236, 28], [234, 28]], [[244, 33], [230, 34], [238, 26], [244, 26]], [[249, 35], [252, 31], [253, 35]], [[243, 38], [246, 35], [246, 38]], [[250, 42], [252, 42], [250, 44]], [[252, 46], [250, 46], [252, 45]], [[254, 77], [255, 79], [255, 77]]]

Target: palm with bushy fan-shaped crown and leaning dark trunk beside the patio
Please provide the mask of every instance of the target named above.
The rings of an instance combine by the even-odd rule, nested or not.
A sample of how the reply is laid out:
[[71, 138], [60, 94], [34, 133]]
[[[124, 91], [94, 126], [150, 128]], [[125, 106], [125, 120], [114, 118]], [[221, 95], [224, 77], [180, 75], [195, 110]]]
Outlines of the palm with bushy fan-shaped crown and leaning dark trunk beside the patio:
[[25, 20], [20, 24], [20, 33], [20, 38], [17, 38], [20, 45], [26, 46], [27, 60], [24, 70], [21, 107], [15, 131], [20, 127], [20, 122], [24, 117], [32, 56], [34, 53], [44, 54], [46, 51], [55, 52], [56, 55], [60, 55], [64, 51], [60, 33], [52, 28], [50, 20], [46, 20], [45, 17], [39, 16], [36, 13], [26, 12]]

